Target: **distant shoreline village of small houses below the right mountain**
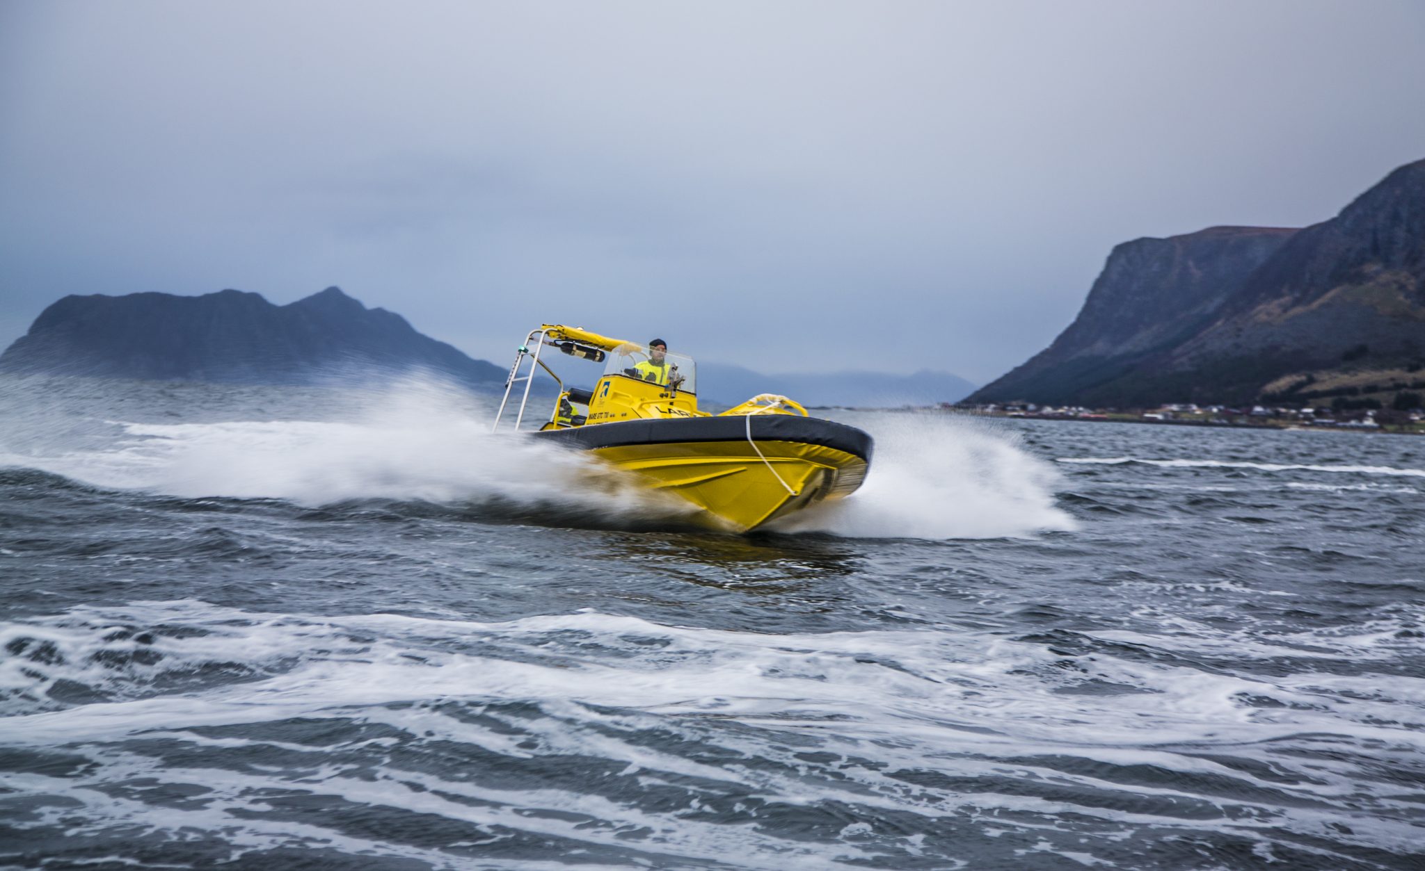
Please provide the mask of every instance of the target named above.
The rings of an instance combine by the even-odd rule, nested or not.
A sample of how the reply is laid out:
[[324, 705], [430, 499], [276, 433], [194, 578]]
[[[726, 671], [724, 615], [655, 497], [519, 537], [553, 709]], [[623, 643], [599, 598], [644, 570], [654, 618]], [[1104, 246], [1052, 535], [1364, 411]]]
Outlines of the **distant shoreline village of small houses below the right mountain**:
[[1425, 434], [1425, 408], [1419, 396], [1405, 394], [1414, 401], [1408, 408], [1347, 408], [1347, 407], [1230, 407], [1171, 403], [1156, 408], [1084, 408], [1083, 406], [1039, 406], [1035, 403], [942, 403], [940, 407], [970, 411], [990, 417], [1022, 417], [1035, 420], [1084, 420], [1116, 423], [1147, 423], [1203, 427], [1255, 427], [1267, 430], [1331, 428], [1371, 430], [1385, 433]]

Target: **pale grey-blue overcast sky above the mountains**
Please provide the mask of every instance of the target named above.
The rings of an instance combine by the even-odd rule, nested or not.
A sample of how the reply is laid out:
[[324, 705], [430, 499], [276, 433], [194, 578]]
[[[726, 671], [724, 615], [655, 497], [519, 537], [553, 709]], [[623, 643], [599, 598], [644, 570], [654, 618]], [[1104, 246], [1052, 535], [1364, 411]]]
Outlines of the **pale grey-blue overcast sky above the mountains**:
[[67, 293], [338, 285], [988, 381], [1109, 249], [1425, 158], [1425, 3], [0, 3], [0, 347]]

